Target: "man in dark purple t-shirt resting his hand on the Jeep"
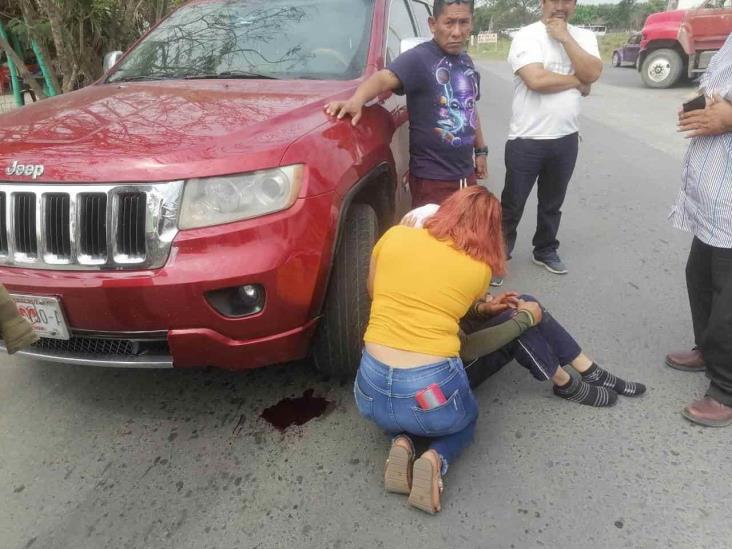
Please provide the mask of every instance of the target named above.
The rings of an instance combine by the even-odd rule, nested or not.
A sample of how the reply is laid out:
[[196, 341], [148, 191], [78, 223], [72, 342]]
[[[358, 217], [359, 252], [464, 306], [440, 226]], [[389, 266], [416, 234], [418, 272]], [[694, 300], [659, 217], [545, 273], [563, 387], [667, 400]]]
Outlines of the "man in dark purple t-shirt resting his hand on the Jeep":
[[413, 207], [440, 204], [487, 175], [488, 149], [476, 105], [480, 76], [465, 53], [473, 29], [473, 2], [435, 0], [432, 11], [431, 41], [404, 52], [347, 101], [325, 106], [329, 115], [348, 114], [356, 125], [371, 99], [389, 90], [406, 94]]

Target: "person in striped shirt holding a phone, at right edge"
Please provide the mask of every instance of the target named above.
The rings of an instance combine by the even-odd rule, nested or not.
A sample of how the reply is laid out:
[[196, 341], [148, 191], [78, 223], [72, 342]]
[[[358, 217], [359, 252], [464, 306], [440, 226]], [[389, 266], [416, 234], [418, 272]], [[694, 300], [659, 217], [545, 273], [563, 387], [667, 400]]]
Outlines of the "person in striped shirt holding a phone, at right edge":
[[669, 215], [674, 227], [694, 235], [686, 286], [696, 346], [668, 354], [666, 364], [706, 370], [706, 395], [682, 414], [724, 427], [732, 424], [732, 35], [710, 61], [700, 92], [706, 107], [679, 113], [679, 131], [691, 141]]

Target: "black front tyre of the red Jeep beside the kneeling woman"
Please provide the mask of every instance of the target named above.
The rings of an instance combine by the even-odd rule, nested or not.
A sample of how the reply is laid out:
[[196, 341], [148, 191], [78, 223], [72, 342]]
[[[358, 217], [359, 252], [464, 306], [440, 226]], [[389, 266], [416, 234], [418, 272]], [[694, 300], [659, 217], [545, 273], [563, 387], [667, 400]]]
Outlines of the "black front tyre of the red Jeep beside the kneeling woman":
[[371, 302], [368, 280], [371, 250], [376, 242], [376, 213], [367, 204], [353, 204], [333, 263], [328, 293], [313, 345], [315, 367], [322, 373], [352, 376], [358, 369]]

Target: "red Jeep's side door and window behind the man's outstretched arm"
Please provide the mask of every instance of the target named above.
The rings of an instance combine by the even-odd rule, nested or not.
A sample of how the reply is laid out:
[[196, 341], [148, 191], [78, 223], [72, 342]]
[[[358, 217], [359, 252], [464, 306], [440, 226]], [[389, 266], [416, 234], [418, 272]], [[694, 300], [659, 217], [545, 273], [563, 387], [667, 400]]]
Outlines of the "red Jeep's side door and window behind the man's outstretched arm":
[[[386, 51], [384, 59], [388, 64], [399, 55], [401, 41], [417, 36], [414, 18], [407, 0], [392, 0], [387, 21]], [[397, 177], [396, 215], [397, 219], [411, 209], [412, 196], [409, 192], [409, 116], [404, 95], [384, 94], [379, 98], [381, 105], [391, 114], [394, 123], [390, 148], [394, 158]]]

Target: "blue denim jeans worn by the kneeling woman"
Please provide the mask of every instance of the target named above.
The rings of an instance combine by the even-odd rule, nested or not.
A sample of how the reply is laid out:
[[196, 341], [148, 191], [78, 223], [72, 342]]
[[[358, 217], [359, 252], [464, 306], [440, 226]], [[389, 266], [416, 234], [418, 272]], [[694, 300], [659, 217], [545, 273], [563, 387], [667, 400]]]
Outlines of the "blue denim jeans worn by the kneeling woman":
[[[422, 410], [415, 395], [436, 383], [447, 402]], [[442, 474], [473, 441], [478, 403], [470, 390], [459, 358], [417, 368], [391, 368], [366, 350], [353, 384], [358, 411], [391, 437], [400, 434], [427, 437], [430, 449], [442, 459]]]

